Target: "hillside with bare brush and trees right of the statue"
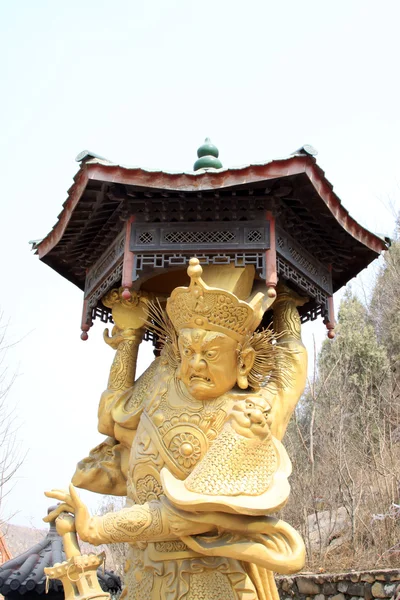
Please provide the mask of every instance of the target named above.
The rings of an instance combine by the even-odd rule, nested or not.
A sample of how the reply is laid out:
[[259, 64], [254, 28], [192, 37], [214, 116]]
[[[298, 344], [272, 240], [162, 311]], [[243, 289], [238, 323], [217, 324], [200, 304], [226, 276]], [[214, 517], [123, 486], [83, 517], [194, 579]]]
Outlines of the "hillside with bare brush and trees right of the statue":
[[285, 445], [293, 462], [283, 516], [311, 570], [390, 567], [400, 559], [400, 240], [371, 300], [348, 291]]

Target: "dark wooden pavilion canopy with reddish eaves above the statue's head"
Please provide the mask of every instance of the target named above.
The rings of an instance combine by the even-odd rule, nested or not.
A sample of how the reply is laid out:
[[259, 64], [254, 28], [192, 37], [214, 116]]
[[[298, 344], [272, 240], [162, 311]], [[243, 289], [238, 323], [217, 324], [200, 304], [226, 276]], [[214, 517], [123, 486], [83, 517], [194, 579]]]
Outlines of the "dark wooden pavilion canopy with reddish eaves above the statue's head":
[[[84, 291], [89, 325], [96, 316], [111, 320], [101, 305], [111, 287], [169, 293], [194, 254], [204, 264], [253, 264], [267, 286], [276, 275], [309, 296], [303, 321], [327, 321], [332, 294], [388, 246], [349, 215], [305, 151], [189, 173], [81, 156], [57, 223], [34, 248]], [[179, 269], [181, 278], [163, 279]]]

